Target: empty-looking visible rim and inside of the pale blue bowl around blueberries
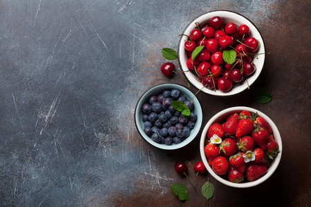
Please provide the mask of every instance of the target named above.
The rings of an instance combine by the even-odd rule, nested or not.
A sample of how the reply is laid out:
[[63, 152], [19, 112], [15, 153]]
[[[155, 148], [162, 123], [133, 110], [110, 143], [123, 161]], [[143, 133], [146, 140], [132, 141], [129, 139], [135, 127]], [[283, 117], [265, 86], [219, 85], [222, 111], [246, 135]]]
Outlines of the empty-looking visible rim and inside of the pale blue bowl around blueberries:
[[194, 97], [194, 99], [193, 99], [193, 101], [194, 101], [194, 112], [198, 116], [198, 119], [196, 120], [196, 126], [194, 126], [194, 128], [192, 130], [190, 130], [189, 137], [187, 137], [185, 140], [180, 142], [180, 144], [171, 144], [171, 145], [159, 144], [159, 143], [156, 143], [155, 141], [153, 141], [150, 137], [148, 137], [144, 133], [144, 126], [143, 126], [144, 123], [142, 121], [142, 105], [144, 103], [147, 103], [147, 100], [152, 95], [158, 95], [161, 92], [163, 92], [163, 90], [166, 90], [166, 89], [173, 90], [175, 88], [180, 90], [180, 92], [183, 95], [185, 95], [185, 97], [187, 97], [187, 99], [189, 99], [189, 100], [191, 100], [194, 97], [194, 93], [191, 92], [191, 90], [189, 90], [185, 86], [182, 86], [182, 85], [179, 85], [176, 83], [162, 83], [162, 84], [153, 86], [152, 88], [149, 88], [146, 92], [144, 92], [142, 97], [140, 97], [140, 99], [138, 100], [138, 103], [136, 104], [136, 107], [135, 107], [135, 125], [138, 129], [138, 132], [140, 132], [140, 135], [142, 136], [142, 138], [144, 138], [144, 140], [146, 140], [152, 146], [155, 146], [157, 148], [164, 149], [164, 150], [176, 150], [178, 148], [182, 148], [182, 147], [186, 146], [192, 140], [194, 140], [194, 138], [196, 138], [196, 136], [198, 135], [198, 132], [200, 131], [200, 128], [202, 126], [202, 117], [203, 117], [202, 116], [202, 108], [201, 108], [201, 105], [200, 105], [200, 102], [198, 101], [198, 99], [196, 97]]

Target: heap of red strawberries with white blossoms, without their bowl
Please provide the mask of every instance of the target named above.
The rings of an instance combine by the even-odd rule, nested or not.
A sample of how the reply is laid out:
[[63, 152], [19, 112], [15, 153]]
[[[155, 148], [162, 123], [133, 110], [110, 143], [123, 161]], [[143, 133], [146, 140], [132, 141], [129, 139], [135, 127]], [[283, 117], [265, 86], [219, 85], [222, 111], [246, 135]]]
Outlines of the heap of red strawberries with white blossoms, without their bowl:
[[254, 181], [267, 172], [279, 152], [271, 126], [254, 113], [232, 113], [207, 130], [205, 155], [217, 175], [240, 183]]

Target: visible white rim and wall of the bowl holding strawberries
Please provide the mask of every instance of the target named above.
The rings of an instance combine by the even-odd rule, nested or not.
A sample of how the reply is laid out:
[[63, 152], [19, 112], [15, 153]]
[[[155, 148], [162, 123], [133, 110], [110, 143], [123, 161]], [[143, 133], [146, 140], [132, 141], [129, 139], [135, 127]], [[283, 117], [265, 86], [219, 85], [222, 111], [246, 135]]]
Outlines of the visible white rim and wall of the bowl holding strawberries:
[[[223, 179], [223, 177], [220, 177], [211, 169], [211, 166], [209, 166], [209, 164], [208, 164], [207, 157], [205, 156], [204, 148], [205, 148], [205, 140], [206, 140], [207, 130], [209, 129], [209, 126], [211, 126], [211, 124], [214, 124], [215, 122], [222, 121], [223, 119], [225, 119], [225, 117], [227, 117], [227, 115], [229, 115], [231, 113], [241, 112], [242, 110], [248, 110], [249, 112], [255, 112], [255, 113], [257, 112], [258, 117], [263, 117], [263, 119], [265, 119], [265, 121], [267, 121], [267, 123], [270, 124], [270, 126], [273, 130], [274, 139], [279, 144], [280, 152], [274, 158], [274, 161], [272, 161], [270, 168], [267, 169], [267, 173], [265, 175], [263, 175], [263, 177], [255, 180], [255, 181], [249, 181], [247, 183], [236, 184], [236, 183], [232, 183], [226, 179]], [[274, 122], [269, 117], [267, 117], [267, 115], [265, 115], [263, 112], [260, 112], [254, 108], [249, 108], [249, 107], [245, 107], [245, 106], [237, 106], [237, 107], [227, 108], [225, 110], [218, 112], [216, 115], [214, 115], [214, 117], [211, 117], [211, 119], [209, 119], [209, 121], [205, 125], [205, 128], [202, 131], [202, 135], [201, 135], [201, 139], [200, 139], [200, 155], [201, 155], [201, 158], [202, 158], [202, 161], [203, 161], [205, 167], [209, 171], [209, 174], [211, 174], [215, 179], [217, 179], [218, 181], [220, 181], [221, 183], [223, 183], [227, 186], [231, 186], [234, 188], [249, 188], [252, 186], [257, 186], [258, 184], [261, 184], [263, 181], [267, 180], [273, 174], [273, 172], [276, 170], [276, 168], [279, 166], [279, 163], [281, 160], [281, 155], [282, 155], [281, 135], [280, 135], [278, 128], [276, 128], [276, 125], [274, 124]]]

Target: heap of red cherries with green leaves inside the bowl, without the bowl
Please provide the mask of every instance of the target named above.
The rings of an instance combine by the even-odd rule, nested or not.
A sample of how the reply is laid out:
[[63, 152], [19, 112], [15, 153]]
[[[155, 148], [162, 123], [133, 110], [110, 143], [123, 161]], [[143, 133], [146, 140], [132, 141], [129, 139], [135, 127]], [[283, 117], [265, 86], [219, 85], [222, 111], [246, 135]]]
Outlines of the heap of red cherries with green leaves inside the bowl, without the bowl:
[[213, 17], [197, 28], [185, 41], [187, 67], [194, 72], [206, 88], [228, 92], [234, 83], [242, 83], [254, 74], [252, 63], [259, 49], [259, 42], [249, 37], [249, 27], [245, 24], [223, 23], [221, 17]]

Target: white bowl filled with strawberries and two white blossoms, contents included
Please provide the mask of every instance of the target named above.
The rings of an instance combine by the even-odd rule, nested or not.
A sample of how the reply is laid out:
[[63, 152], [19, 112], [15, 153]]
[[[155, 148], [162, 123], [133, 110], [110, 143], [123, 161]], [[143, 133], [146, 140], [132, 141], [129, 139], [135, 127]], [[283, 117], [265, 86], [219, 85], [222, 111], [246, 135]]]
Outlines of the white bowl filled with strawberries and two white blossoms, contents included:
[[227, 108], [202, 130], [200, 155], [209, 173], [235, 188], [257, 186], [279, 166], [281, 135], [274, 122], [254, 108]]

